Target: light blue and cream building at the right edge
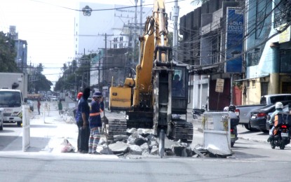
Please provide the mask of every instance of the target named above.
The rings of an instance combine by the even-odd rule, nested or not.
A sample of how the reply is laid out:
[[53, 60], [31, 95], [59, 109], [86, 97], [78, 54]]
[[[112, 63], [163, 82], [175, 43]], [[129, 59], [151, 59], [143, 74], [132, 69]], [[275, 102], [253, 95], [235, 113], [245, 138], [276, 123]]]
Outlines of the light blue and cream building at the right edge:
[[246, 1], [243, 104], [257, 104], [264, 94], [291, 92], [291, 2]]

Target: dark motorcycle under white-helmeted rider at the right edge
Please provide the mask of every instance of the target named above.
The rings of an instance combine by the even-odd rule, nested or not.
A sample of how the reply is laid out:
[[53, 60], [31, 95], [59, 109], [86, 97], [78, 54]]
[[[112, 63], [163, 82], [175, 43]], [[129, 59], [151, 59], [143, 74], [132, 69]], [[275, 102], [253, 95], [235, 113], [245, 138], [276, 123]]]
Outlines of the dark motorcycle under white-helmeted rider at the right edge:
[[[273, 138], [270, 140], [271, 148], [274, 149], [278, 146], [281, 150], [284, 150], [287, 144], [290, 144], [290, 127], [291, 127], [291, 115], [278, 113], [277, 120], [275, 119], [275, 130], [273, 131]], [[276, 118], [276, 116], [275, 116]], [[272, 125], [270, 125], [270, 130]]]

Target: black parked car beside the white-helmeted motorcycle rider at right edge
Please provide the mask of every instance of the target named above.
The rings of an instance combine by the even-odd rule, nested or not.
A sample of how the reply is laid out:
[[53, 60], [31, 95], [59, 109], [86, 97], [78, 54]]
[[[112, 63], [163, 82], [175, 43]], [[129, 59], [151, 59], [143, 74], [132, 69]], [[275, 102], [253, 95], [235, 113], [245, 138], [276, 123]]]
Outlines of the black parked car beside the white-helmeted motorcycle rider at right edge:
[[[288, 103], [290, 102], [291, 101], [282, 102], [284, 106], [283, 111], [286, 113], [289, 112]], [[271, 113], [273, 113], [275, 110], [275, 104], [269, 104], [250, 112], [250, 126], [256, 128], [257, 130], [261, 130], [264, 133], [269, 132], [269, 125], [266, 123], [266, 118], [268, 115], [271, 116]]]

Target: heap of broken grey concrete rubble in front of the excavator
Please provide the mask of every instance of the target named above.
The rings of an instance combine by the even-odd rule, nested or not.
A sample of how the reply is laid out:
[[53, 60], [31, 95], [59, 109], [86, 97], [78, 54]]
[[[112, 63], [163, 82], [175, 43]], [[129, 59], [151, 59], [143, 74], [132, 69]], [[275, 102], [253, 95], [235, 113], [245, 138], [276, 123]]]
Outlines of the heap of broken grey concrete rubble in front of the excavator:
[[[127, 130], [129, 135], [114, 135], [114, 139], [109, 144], [109, 150], [105, 149], [106, 141], [100, 139], [100, 144], [103, 144], [103, 151], [100, 153], [109, 154], [110, 152], [118, 155], [121, 158], [137, 155], [158, 155], [158, 139], [151, 133], [152, 130], [130, 129]], [[216, 157], [224, 158], [219, 151], [213, 151], [211, 148], [205, 149], [198, 145], [191, 148], [189, 144], [181, 141], [168, 140], [165, 142], [165, 155], [181, 156], [181, 157]]]

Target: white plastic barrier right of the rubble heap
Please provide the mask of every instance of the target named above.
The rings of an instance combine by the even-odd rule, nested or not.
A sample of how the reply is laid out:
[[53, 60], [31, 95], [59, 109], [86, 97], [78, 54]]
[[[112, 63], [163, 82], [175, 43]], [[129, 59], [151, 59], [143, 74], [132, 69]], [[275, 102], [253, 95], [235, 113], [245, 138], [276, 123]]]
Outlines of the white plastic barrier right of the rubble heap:
[[203, 146], [212, 149], [217, 154], [230, 155], [231, 134], [230, 117], [227, 112], [212, 112], [203, 114]]

